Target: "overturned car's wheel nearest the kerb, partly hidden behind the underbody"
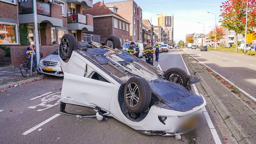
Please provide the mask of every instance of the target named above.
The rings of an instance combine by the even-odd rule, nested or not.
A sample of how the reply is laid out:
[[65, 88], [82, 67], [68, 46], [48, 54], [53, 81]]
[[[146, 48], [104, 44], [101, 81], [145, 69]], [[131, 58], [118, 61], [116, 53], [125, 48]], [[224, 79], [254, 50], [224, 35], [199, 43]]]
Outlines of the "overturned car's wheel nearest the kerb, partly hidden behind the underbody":
[[180, 68], [170, 68], [164, 73], [164, 77], [166, 80], [180, 84], [184, 87], [187, 86], [188, 83], [188, 75], [187, 73]]

